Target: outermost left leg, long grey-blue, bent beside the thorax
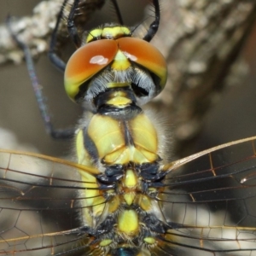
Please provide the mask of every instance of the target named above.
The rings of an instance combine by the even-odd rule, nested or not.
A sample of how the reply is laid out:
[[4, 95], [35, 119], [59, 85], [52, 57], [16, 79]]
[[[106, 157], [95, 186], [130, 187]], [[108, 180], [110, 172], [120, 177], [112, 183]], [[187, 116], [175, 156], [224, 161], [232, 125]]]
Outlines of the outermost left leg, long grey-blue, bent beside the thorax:
[[29, 77], [32, 82], [32, 88], [34, 90], [37, 102], [38, 102], [38, 107], [41, 113], [42, 118], [44, 119], [44, 126], [45, 130], [51, 137], [54, 137], [56, 139], [67, 139], [67, 138], [72, 138], [74, 136], [74, 131], [75, 129], [67, 129], [67, 130], [55, 130], [52, 122], [49, 117], [48, 109], [46, 107], [46, 104], [44, 102], [44, 96], [42, 92], [42, 86], [38, 82], [38, 77], [35, 71], [35, 66], [34, 66], [34, 61], [32, 59], [32, 54], [30, 49], [26, 44], [21, 42], [19, 38], [15, 35], [15, 32], [12, 31], [11, 28], [11, 20], [10, 16], [6, 20], [7, 27], [9, 28], [9, 32], [12, 36], [12, 38], [15, 40], [15, 43], [18, 44], [20, 49], [23, 50], [25, 60], [26, 60], [26, 67], [28, 70]]

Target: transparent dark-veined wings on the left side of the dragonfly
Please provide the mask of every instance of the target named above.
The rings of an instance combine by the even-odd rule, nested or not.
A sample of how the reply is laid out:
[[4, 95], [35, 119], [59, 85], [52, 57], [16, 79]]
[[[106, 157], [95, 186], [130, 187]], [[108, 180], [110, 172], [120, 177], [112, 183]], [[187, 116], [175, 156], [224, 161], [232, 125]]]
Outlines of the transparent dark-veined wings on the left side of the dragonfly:
[[100, 255], [88, 246], [86, 233], [77, 231], [79, 190], [90, 189], [80, 182], [81, 168], [97, 172], [38, 154], [0, 151], [0, 255]]

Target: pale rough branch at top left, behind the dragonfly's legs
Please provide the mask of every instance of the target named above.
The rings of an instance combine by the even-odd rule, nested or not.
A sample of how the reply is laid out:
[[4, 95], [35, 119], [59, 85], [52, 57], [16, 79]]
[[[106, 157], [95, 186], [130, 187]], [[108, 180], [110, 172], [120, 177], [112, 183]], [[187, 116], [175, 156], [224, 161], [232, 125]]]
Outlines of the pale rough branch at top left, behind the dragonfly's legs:
[[[12, 20], [12, 30], [24, 44], [29, 46], [33, 56], [48, 51], [49, 37], [55, 28], [57, 15], [60, 13], [63, 1], [42, 1], [33, 9], [31, 16]], [[100, 9], [104, 2], [105, 0], [81, 0], [76, 22], [86, 22], [95, 9]], [[61, 20], [61, 27], [58, 32], [60, 38], [67, 38], [67, 16], [72, 3], [73, 0], [68, 0], [64, 9], [64, 19]], [[23, 56], [23, 52], [11, 38], [7, 26], [5, 24], [0, 26], [0, 64], [9, 61], [18, 64], [23, 61]]]

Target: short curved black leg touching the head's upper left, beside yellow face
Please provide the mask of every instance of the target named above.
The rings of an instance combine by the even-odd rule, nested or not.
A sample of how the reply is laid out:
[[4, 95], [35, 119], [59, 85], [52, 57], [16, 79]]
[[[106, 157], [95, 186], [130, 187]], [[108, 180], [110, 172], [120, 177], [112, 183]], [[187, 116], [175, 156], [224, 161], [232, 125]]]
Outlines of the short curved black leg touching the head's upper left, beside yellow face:
[[67, 18], [67, 30], [68, 30], [70, 37], [73, 40], [73, 44], [75, 44], [75, 46], [77, 48], [79, 48], [81, 46], [81, 39], [79, 38], [78, 29], [74, 25], [73, 18], [74, 18], [76, 10], [79, 7], [79, 2], [80, 2], [80, 0], [74, 0], [73, 7], [70, 10], [70, 13]]

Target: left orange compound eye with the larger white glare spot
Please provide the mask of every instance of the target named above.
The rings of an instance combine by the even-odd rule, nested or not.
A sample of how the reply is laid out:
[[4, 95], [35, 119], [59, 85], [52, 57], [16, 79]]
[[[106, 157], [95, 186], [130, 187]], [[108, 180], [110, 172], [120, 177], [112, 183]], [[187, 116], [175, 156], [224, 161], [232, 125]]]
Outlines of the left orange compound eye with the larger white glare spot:
[[79, 86], [113, 61], [118, 51], [114, 40], [102, 39], [77, 49], [67, 61], [64, 84], [67, 95], [74, 100]]

